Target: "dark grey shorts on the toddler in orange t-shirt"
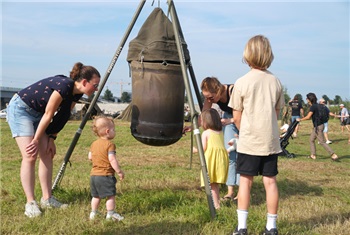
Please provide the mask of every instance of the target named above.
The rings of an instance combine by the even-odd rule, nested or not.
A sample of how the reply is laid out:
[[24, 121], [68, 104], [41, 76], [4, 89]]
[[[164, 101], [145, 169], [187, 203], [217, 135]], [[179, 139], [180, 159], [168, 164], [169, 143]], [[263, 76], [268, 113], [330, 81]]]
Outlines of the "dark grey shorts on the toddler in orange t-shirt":
[[114, 175], [92, 175], [90, 176], [90, 190], [92, 197], [111, 197], [117, 194], [117, 179]]

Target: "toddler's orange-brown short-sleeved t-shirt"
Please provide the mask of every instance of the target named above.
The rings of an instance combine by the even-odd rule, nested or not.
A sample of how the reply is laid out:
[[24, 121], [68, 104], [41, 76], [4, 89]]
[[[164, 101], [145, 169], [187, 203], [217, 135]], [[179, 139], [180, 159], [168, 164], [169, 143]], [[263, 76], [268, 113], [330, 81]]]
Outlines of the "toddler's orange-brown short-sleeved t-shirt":
[[92, 169], [90, 175], [114, 175], [114, 169], [108, 160], [109, 153], [115, 153], [115, 144], [110, 140], [98, 139], [90, 146]]

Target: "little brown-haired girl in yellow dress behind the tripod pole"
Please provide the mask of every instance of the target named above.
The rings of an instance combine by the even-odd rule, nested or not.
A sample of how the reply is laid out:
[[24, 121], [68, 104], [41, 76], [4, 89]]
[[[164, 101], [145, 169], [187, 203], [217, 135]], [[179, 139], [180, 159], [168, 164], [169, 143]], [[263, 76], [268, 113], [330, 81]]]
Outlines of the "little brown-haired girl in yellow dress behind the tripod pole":
[[[224, 135], [219, 113], [211, 108], [202, 112], [202, 144], [210, 179], [214, 206], [220, 208], [219, 184], [225, 184], [228, 174], [228, 154], [224, 145]], [[201, 174], [201, 186], [204, 186]]]

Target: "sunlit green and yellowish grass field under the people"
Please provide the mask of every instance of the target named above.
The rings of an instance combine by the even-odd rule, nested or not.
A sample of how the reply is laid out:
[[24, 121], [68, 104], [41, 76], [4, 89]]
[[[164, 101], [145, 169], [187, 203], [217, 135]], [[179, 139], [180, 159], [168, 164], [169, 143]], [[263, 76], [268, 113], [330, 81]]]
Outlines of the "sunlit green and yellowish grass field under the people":
[[[71, 157], [55, 196], [69, 203], [65, 210], [45, 210], [39, 218], [24, 215], [25, 196], [19, 180], [21, 156], [11, 138], [7, 123], [1, 124], [1, 234], [231, 234], [237, 225], [237, 205], [226, 204], [213, 221], [204, 190], [199, 185], [200, 161], [193, 155], [190, 169], [190, 135], [166, 147], [152, 147], [136, 141], [129, 123], [116, 121], [117, 157], [125, 171], [125, 180], [117, 183], [116, 211], [125, 217], [119, 223], [101, 217], [89, 221], [90, 162], [87, 153], [96, 138], [91, 122]], [[70, 121], [56, 140], [54, 178], [78, 129], [79, 121]], [[189, 125], [187, 123], [187, 125]], [[311, 121], [302, 123], [299, 135], [290, 140], [288, 151], [295, 158], [279, 158], [278, 185], [280, 234], [350, 234], [350, 145], [347, 133], [340, 132], [339, 120], [330, 120], [331, 147], [340, 156], [332, 162], [317, 146], [317, 160], [309, 155]], [[258, 147], [258, 146], [257, 146]], [[226, 192], [225, 186], [221, 194]], [[37, 182], [36, 197], [41, 190]], [[266, 223], [265, 194], [261, 177], [252, 189], [248, 217], [249, 234], [260, 234]]]

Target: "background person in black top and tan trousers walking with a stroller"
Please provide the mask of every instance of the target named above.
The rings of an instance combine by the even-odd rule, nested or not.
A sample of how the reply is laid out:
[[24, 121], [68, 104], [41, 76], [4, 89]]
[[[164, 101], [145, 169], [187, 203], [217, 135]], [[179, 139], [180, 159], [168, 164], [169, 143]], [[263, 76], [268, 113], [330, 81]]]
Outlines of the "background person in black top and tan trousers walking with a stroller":
[[303, 117], [301, 119], [297, 119], [297, 121], [301, 122], [304, 120], [309, 120], [310, 118], [312, 119], [312, 123], [313, 123], [314, 128], [313, 128], [311, 135], [310, 135], [311, 155], [309, 156], [309, 158], [316, 160], [315, 140], [317, 138], [318, 141], [320, 142], [320, 145], [322, 145], [322, 147], [330, 154], [331, 159], [333, 161], [337, 161], [338, 160], [337, 154], [335, 154], [334, 151], [329, 147], [329, 145], [326, 144], [326, 141], [324, 138], [324, 134], [323, 134], [324, 122], [322, 123], [320, 120], [320, 111], [318, 108], [319, 104], [317, 104], [316, 95], [314, 93], [308, 93], [306, 95], [306, 100], [307, 100], [308, 104], [310, 105], [310, 111], [308, 112], [308, 114], [305, 117]]

